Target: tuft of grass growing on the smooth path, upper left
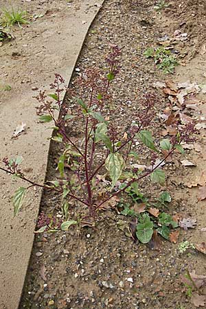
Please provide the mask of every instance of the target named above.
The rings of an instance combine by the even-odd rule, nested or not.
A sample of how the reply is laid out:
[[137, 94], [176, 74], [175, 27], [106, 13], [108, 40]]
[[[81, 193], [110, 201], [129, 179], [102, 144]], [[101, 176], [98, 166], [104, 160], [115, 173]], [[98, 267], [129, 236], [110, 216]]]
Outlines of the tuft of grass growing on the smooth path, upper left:
[[5, 28], [12, 27], [13, 25], [21, 25], [29, 23], [27, 20], [27, 12], [19, 9], [11, 8], [10, 10], [4, 8], [1, 10], [0, 25]]

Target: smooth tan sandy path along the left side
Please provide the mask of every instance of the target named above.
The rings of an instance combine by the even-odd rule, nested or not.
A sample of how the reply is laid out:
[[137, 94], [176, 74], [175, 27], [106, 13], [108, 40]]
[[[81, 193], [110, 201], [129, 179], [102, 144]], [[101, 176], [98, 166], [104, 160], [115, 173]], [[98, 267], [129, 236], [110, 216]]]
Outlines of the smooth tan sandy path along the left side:
[[[28, 25], [10, 30], [13, 39], [0, 46], [0, 141], [1, 160], [23, 157], [23, 171], [43, 183], [51, 129], [38, 123], [36, 90], [54, 81], [60, 73], [67, 82], [84, 37], [102, 1], [0, 1], [0, 8], [27, 10]], [[12, 138], [19, 124], [25, 130]], [[23, 125], [24, 126], [24, 125]], [[21, 297], [34, 239], [41, 190], [27, 194], [19, 218], [13, 219], [11, 194], [16, 181], [1, 172], [0, 180], [0, 308], [16, 309]], [[23, 185], [20, 181], [18, 186]]]

